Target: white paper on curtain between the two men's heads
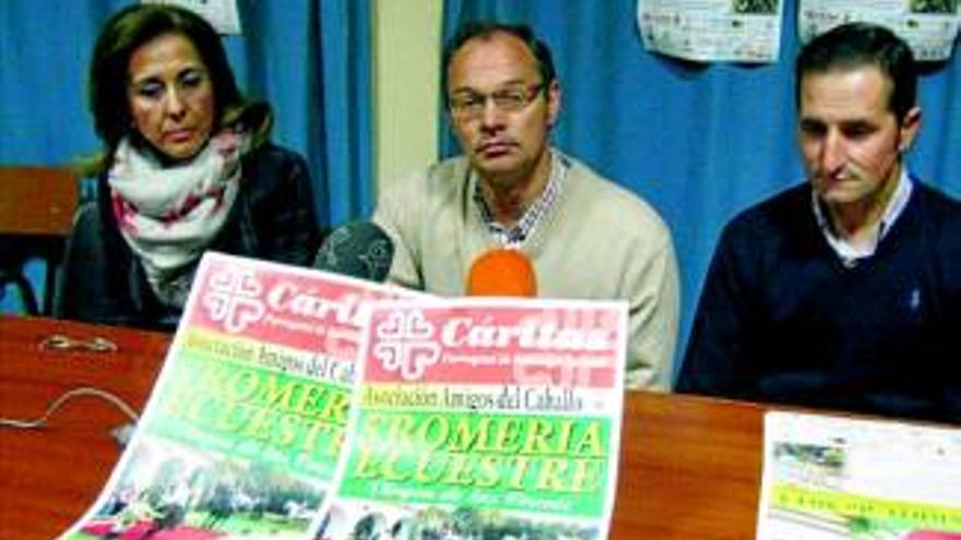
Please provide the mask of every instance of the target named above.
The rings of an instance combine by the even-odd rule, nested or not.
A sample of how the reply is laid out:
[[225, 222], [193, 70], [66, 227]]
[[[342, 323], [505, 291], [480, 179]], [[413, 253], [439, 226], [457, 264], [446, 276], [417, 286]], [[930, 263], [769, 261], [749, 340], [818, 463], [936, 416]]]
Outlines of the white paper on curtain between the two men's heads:
[[696, 61], [774, 62], [781, 0], [638, 0], [644, 47]]

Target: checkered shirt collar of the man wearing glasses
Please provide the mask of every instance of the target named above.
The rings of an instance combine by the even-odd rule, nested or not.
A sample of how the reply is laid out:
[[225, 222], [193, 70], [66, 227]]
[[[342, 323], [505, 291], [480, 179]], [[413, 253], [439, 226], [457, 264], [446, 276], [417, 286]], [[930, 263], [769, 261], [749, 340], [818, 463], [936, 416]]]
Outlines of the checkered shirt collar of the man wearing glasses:
[[[550, 176], [547, 180], [547, 185], [544, 188], [541, 196], [538, 196], [534, 203], [524, 211], [524, 214], [518, 219], [518, 223], [514, 224], [513, 227], [505, 227], [497, 223], [494, 218], [494, 213], [490, 212], [490, 207], [487, 205], [487, 201], [484, 200], [479, 178], [475, 178], [474, 202], [477, 203], [477, 208], [479, 208], [480, 212], [480, 220], [487, 225], [487, 230], [490, 235], [494, 236], [501, 245], [507, 248], [518, 248], [523, 244], [524, 240], [531, 236], [534, 228], [537, 227], [537, 224], [547, 214], [547, 211], [549, 211], [550, 207], [554, 206], [554, 203], [557, 202], [569, 168], [570, 163], [565, 159], [563, 156], [557, 152], [550, 153]], [[473, 175], [476, 175], [476, 172], [473, 172]]]

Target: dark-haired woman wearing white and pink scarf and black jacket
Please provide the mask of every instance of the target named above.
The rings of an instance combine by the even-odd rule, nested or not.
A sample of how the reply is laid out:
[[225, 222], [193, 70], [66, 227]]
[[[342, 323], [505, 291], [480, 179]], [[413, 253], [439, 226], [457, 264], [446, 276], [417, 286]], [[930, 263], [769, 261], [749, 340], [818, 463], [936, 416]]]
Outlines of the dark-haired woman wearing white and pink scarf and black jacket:
[[175, 7], [131, 5], [102, 31], [88, 98], [104, 152], [78, 209], [58, 315], [171, 329], [206, 250], [309, 265], [319, 244], [304, 159], [269, 141], [216, 32]]

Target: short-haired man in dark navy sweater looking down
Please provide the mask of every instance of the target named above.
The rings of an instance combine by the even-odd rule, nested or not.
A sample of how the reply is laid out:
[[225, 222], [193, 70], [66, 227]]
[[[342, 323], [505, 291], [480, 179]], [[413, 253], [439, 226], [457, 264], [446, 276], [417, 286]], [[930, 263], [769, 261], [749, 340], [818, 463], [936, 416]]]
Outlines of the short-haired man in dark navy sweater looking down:
[[725, 227], [677, 389], [961, 422], [961, 204], [902, 166], [911, 50], [846, 24], [795, 75], [808, 182]]

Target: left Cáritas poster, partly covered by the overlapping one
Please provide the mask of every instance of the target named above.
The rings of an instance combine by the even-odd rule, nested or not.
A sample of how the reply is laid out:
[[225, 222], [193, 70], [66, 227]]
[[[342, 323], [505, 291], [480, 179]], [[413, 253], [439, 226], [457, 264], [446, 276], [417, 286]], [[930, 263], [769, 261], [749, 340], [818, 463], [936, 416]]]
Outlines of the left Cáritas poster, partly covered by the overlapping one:
[[209, 253], [106, 489], [62, 538], [311, 538], [370, 300], [408, 293]]

